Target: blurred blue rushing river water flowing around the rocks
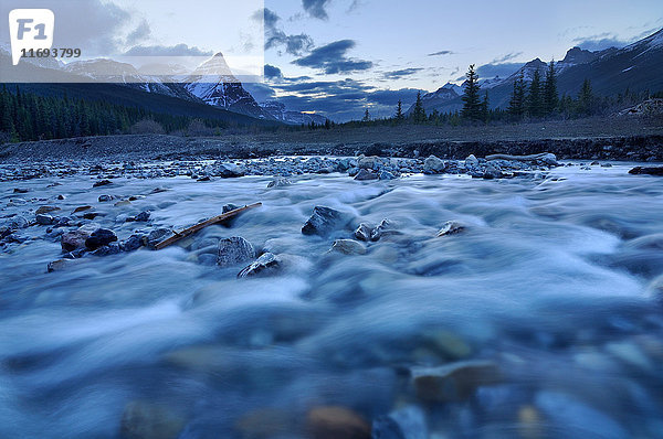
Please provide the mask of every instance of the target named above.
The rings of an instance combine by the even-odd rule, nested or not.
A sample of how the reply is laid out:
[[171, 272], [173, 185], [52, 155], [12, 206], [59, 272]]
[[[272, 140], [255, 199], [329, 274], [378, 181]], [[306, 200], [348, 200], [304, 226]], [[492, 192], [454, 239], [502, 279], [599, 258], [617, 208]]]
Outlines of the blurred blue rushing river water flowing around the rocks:
[[[138, 400], [180, 438], [302, 438], [322, 406], [368, 420], [411, 410], [408, 438], [663, 438], [663, 308], [649, 288], [663, 274], [663, 180], [628, 169], [311, 175], [271, 190], [267, 178], [0, 183], [1, 216], [90, 204], [120, 238], [137, 227], [123, 215], [150, 210], [145, 228], [180, 228], [261, 201], [193, 248], [242, 236], [291, 255], [283, 272], [256, 279], [179, 246], [48, 274], [59, 242], [45, 227], [22, 231], [35, 239], [0, 254], [0, 437], [119, 437]], [[115, 207], [102, 193], [147, 196]], [[401, 234], [366, 255], [327, 253], [351, 231], [304, 236], [315, 205], [357, 223], [389, 218]], [[466, 231], [435, 237], [450, 220]], [[412, 390], [411, 367], [459, 360], [491, 361], [502, 379], [451, 403]]]

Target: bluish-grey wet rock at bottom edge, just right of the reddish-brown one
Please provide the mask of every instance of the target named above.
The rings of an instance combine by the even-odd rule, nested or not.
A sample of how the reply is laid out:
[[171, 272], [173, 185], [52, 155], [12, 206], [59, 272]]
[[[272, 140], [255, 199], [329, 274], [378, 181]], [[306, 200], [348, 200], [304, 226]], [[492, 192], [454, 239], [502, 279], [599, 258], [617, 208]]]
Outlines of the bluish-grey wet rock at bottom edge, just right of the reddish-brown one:
[[428, 439], [425, 414], [420, 407], [407, 406], [372, 422], [373, 439]]

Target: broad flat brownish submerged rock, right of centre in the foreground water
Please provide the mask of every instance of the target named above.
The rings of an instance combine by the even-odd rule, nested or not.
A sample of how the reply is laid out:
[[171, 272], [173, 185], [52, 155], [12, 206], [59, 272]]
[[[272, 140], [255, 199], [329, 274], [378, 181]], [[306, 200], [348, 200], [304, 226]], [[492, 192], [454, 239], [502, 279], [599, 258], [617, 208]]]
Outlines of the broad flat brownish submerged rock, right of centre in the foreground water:
[[417, 396], [427, 403], [465, 400], [477, 387], [498, 384], [501, 381], [499, 368], [487, 361], [457, 362], [440, 367], [412, 370]]

